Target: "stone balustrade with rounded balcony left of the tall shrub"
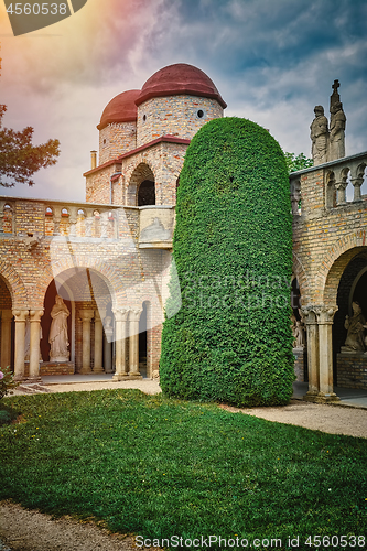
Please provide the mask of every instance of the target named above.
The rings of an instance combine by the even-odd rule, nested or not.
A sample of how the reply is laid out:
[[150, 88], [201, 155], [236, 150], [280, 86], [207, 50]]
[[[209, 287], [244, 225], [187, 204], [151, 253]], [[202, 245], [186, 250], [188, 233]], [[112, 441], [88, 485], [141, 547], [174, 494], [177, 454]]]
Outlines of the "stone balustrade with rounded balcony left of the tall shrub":
[[139, 248], [171, 249], [174, 207], [120, 207], [0, 196], [0, 238], [23, 239], [29, 248], [44, 238], [119, 240]]

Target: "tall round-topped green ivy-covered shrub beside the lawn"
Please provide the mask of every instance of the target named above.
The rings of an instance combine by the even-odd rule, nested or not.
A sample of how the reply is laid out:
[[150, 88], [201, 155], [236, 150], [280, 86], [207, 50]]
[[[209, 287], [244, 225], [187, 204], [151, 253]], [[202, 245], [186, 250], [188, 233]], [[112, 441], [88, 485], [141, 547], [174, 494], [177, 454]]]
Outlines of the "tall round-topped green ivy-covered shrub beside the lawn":
[[160, 360], [166, 395], [237, 406], [289, 401], [290, 213], [284, 155], [267, 130], [223, 118], [197, 132], [177, 191], [180, 287], [172, 278]]

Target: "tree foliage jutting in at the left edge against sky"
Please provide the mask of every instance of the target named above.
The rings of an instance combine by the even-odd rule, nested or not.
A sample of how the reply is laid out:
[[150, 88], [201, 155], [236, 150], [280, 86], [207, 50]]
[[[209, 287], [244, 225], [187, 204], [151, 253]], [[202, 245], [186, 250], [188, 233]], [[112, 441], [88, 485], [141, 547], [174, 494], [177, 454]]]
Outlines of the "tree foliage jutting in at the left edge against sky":
[[21, 131], [1, 128], [7, 110], [0, 106], [0, 185], [12, 187], [17, 183], [33, 185], [32, 176], [42, 168], [56, 163], [60, 154], [58, 140], [48, 140], [41, 145], [32, 144], [33, 128]]

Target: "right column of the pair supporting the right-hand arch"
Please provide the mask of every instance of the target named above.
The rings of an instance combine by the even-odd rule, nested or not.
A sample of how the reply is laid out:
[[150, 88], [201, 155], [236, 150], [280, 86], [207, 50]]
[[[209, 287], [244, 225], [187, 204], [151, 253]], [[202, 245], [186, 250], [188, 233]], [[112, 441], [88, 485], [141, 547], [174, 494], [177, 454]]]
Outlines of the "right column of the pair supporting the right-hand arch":
[[319, 322], [319, 380], [317, 401], [338, 401], [333, 390], [333, 318], [337, 307], [315, 309]]

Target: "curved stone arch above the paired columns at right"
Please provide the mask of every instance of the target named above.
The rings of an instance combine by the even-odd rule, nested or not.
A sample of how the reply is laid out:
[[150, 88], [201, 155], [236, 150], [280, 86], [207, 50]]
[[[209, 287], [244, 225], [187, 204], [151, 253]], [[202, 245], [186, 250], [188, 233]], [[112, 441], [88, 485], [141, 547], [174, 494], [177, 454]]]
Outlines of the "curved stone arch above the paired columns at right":
[[315, 288], [320, 290], [320, 303], [336, 306], [341, 277], [350, 260], [365, 247], [367, 247], [366, 231], [358, 230], [344, 236], [328, 249], [315, 277]]

